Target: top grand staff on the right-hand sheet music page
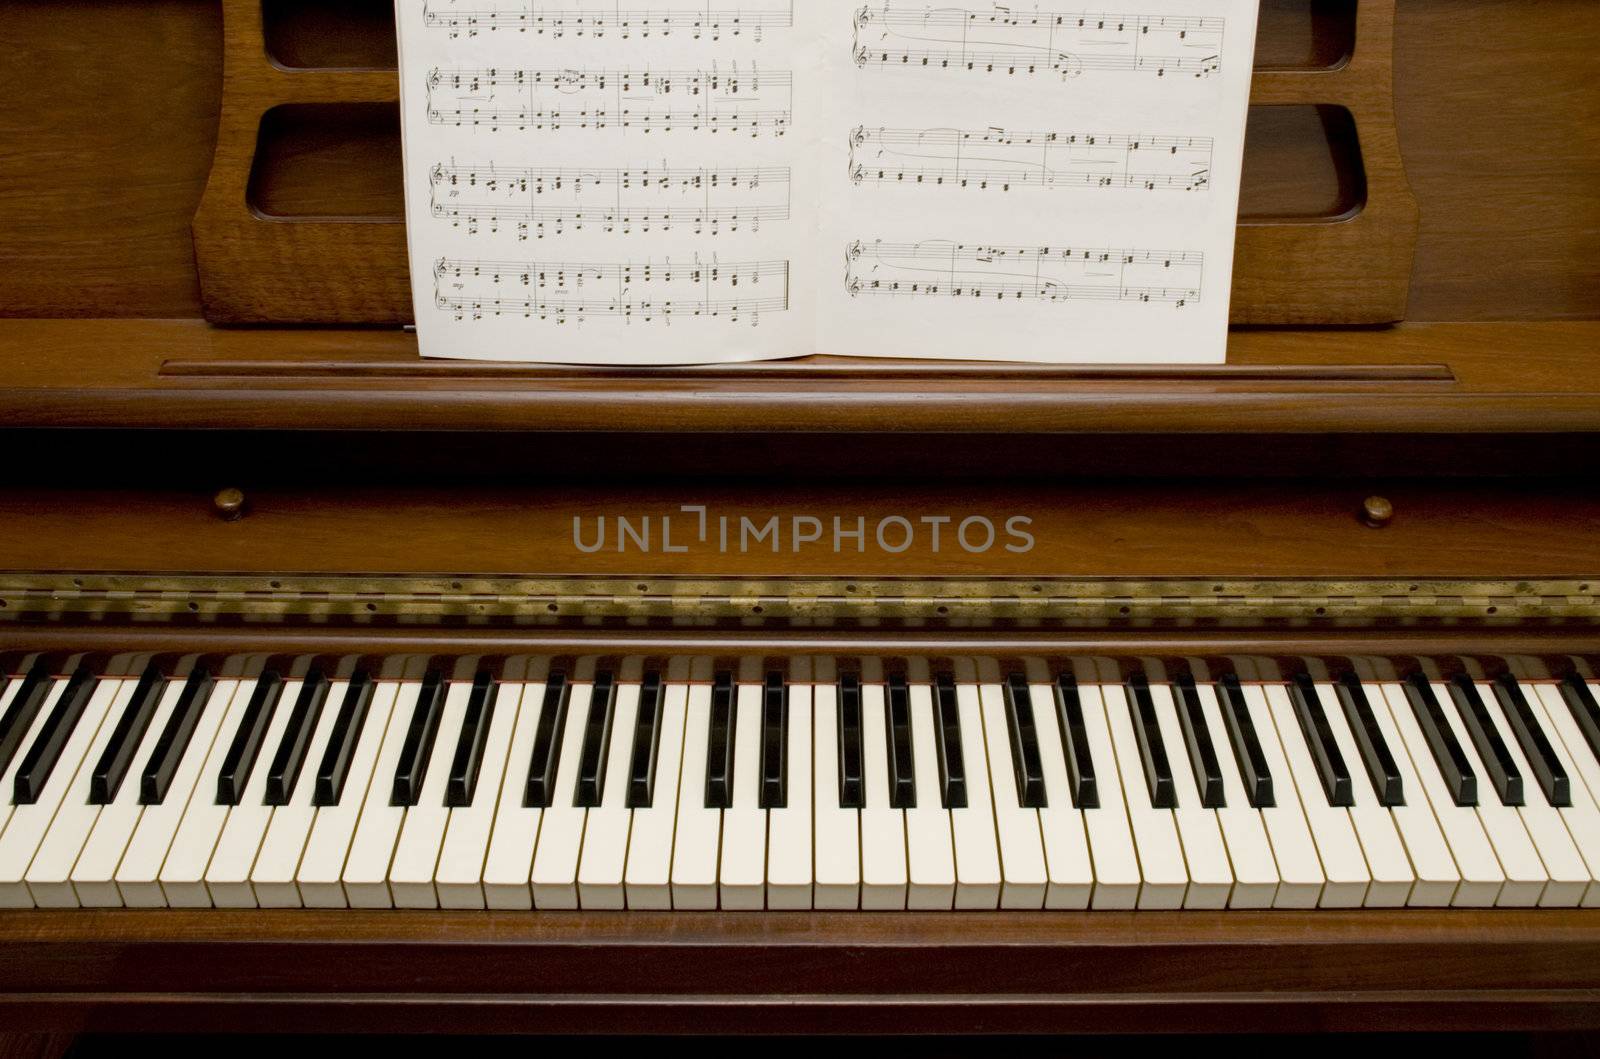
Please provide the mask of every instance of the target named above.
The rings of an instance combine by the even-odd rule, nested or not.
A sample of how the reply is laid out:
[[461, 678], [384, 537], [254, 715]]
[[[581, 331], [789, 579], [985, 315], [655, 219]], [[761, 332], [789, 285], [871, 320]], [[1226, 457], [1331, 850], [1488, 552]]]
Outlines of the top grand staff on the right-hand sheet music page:
[[856, 13], [856, 66], [987, 74], [1122, 72], [1210, 77], [1222, 69], [1226, 19], [986, 10], [886, 0]]

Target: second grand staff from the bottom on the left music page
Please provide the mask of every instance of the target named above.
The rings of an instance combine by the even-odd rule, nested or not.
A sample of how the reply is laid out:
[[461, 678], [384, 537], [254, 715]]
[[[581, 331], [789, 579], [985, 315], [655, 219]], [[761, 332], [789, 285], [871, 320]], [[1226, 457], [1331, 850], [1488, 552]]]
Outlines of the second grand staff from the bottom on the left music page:
[[469, 235], [510, 230], [518, 240], [566, 232], [758, 232], [787, 221], [787, 166], [571, 168], [435, 165], [432, 214]]

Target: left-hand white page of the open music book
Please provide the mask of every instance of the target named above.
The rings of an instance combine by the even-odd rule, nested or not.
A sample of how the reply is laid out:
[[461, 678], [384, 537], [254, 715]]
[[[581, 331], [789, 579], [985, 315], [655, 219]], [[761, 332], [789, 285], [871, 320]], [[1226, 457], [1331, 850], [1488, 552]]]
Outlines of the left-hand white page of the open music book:
[[397, 0], [422, 352], [810, 352], [821, 40], [797, 14], [794, 0]]

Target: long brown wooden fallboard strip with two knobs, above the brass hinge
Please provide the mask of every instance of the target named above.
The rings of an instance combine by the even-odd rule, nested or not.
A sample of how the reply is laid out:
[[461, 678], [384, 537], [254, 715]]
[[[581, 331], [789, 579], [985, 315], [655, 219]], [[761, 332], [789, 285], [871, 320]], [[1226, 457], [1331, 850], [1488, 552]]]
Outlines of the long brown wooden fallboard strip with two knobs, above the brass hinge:
[[[216, 573], [416, 573], [571, 574], [584, 577], [669, 576], [883, 576], [883, 577], [1590, 577], [1600, 576], [1600, 499], [1581, 485], [1546, 490], [1464, 482], [1080, 482], [1070, 485], [942, 486], [880, 483], [875, 488], [786, 485], [685, 485], [605, 488], [363, 488], [264, 486], [237, 482], [248, 514], [222, 522], [210, 493], [70, 488], [0, 493], [5, 566], [27, 571], [216, 571]], [[1371, 530], [1362, 501], [1382, 493], [1394, 523]], [[698, 515], [683, 504], [726, 515], [726, 552], [717, 523], [709, 539], [691, 539]], [[683, 552], [664, 552], [661, 518], [675, 517]], [[771, 542], [741, 549], [739, 518], [757, 525], [779, 517], [858, 518], [875, 526], [901, 515], [966, 518], [997, 526], [997, 542], [968, 552], [946, 528], [934, 550], [931, 531], [902, 553], [840, 552], [814, 545], [795, 552]], [[1003, 545], [1005, 522], [1032, 518], [1035, 544]], [[608, 547], [595, 539], [597, 518], [611, 522]], [[654, 522], [651, 550], [618, 547], [614, 518]], [[830, 536], [827, 537], [832, 539]], [[896, 539], [898, 537], [891, 537]], [[974, 541], [978, 537], [974, 536]], [[1019, 544], [1021, 547], [1021, 544]]]

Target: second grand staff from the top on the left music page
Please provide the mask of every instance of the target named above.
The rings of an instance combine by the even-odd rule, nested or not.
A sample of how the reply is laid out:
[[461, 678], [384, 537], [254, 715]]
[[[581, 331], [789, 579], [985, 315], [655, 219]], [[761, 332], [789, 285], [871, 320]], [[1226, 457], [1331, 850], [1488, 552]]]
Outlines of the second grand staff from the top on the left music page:
[[434, 69], [430, 125], [488, 130], [763, 133], [790, 125], [789, 70]]

